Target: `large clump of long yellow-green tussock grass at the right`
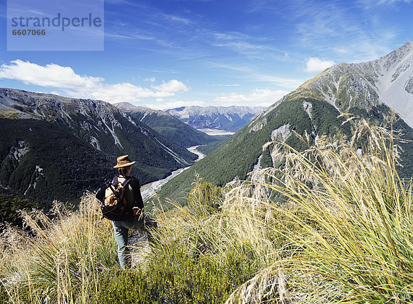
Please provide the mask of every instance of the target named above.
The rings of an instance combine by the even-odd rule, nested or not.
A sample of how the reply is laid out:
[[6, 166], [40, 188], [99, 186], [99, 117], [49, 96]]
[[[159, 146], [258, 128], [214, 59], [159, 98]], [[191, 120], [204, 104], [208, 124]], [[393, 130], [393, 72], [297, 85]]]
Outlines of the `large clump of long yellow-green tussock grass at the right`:
[[268, 229], [290, 245], [228, 303], [244, 303], [279, 270], [286, 273], [284, 301], [413, 303], [412, 182], [397, 174], [400, 136], [360, 119], [351, 138], [321, 136], [304, 152], [277, 143], [273, 156], [284, 165], [262, 174], [284, 202], [272, 206], [288, 225]]

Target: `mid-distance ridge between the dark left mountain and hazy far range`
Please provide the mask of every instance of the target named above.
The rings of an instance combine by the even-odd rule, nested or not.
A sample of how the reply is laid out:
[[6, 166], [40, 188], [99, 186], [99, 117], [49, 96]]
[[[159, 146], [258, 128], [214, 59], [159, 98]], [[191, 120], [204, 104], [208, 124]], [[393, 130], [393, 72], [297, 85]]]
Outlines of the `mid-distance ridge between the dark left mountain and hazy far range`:
[[209, 136], [204, 132], [195, 130], [165, 111], [137, 107], [130, 103], [115, 103], [114, 105], [136, 121], [145, 123], [165, 138], [184, 148], [193, 145], [204, 145], [218, 140], [215, 136]]

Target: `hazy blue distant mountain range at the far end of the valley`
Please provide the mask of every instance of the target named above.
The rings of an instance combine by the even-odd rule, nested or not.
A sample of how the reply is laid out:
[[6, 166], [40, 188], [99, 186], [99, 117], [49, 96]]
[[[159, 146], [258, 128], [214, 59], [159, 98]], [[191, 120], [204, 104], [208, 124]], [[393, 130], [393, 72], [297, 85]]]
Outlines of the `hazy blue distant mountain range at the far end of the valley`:
[[197, 129], [217, 129], [237, 132], [249, 123], [264, 107], [181, 107], [166, 110], [184, 123]]

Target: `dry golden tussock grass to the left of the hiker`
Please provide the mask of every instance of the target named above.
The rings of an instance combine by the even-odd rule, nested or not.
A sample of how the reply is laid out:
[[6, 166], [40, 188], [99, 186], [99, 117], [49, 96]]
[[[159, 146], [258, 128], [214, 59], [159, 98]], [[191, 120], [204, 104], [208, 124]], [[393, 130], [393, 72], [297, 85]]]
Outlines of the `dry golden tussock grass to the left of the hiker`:
[[93, 194], [76, 212], [56, 203], [51, 213], [23, 212], [30, 235], [3, 232], [0, 273], [10, 303], [92, 303], [100, 274], [117, 265], [112, 225]]

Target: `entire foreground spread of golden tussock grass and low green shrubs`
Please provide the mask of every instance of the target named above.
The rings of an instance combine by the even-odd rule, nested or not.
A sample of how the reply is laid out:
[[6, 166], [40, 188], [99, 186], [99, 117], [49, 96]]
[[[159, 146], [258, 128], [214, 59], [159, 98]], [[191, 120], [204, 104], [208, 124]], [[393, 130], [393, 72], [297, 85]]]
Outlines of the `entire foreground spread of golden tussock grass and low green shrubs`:
[[[392, 122], [343, 116], [341, 132], [266, 143], [275, 160], [247, 181], [197, 181], [182, 207], [153, 209], [153, 243], [116, 262], [93, 194], [1, 241], [10, 303], [412, 303], [412, 182], [401, 179]], [[293, 132], [294, 133], [294, 132]], [[164, 211], [165, 205], [175, 208]]]

